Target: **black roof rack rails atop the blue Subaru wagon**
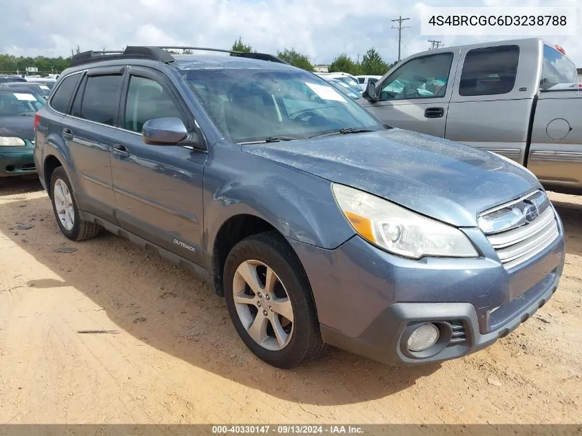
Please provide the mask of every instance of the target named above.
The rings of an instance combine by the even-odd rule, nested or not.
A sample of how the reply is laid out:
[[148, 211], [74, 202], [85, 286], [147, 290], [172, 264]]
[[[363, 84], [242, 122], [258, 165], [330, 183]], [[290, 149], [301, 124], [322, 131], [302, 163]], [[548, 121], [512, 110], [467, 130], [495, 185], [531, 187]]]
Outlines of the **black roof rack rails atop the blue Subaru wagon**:
[[270, 61], [277, 63], [289, 63], [279, 59], [277, 56], [266, 53], [245, 53], [236, 52], [233, 50], [222, 50], [220, 48], [205, 48], [205, 47], [185, 47], [182, 45], [169, 45], [167, 47], [161, 46], [141, 46], [128, 45], [125, 50], [101, 50], [101, 51], [87, 51], [75, 54], [71, 59], [71, 66], [83, 65], [85, 63], [109, 61], [116, 59], [151, 59], [152, 61], [160, 61], [163, 63], [174, 62], [174, 56], [167, 50], [204, 50], [208, 52], [222, 52], [230, 53], [231, 56], [238, 56], [247, 59], [258, 59], [260, 61]]

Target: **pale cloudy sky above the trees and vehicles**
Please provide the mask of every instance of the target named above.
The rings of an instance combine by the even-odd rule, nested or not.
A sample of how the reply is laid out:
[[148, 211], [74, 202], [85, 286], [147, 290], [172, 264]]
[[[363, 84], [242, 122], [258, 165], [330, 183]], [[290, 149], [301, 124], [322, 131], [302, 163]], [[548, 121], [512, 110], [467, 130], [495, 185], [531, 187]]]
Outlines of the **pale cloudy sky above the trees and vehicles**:
[[[4, 3], [4, 2], [3, 2]], [[420, 34], [424, 6], [578, 6], [579, 0], [17, 0], [0, 8], [0, 53], [69, 56], [81, 50], [121, 50], [126, 45], [194, 45], [231, 48], [239, 36], [259, 52], [295, 48], [312, 63], [331, 63], [345, 52], [360, 59], [374, 47], [397, 59], [391, 20], [409, 17], [402, 30], [402, 58], [430, 48], [515, 37], [432, 37]], [[582, 4], [582, 3], [581, 3]], [[579, 10], [581, 12], [582, 8]], [[578, 14], [582, 30], [582, 15]], [[582, 35], [582, 32], [578, 32]], [[526, 37], [527, 35], [524, 35]], [[582, 38], [543, 37], [561, 45], [582, 67]]]

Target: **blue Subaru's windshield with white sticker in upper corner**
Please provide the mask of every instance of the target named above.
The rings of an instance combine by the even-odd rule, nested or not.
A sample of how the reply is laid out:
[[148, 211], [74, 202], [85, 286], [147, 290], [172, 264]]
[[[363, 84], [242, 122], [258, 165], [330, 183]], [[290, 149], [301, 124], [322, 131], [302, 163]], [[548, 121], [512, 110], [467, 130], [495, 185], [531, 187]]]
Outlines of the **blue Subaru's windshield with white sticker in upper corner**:
[[183, 70], [220, 132], [233, 142], [310, 136], [382, 124], [315, 74], [298, 70]]

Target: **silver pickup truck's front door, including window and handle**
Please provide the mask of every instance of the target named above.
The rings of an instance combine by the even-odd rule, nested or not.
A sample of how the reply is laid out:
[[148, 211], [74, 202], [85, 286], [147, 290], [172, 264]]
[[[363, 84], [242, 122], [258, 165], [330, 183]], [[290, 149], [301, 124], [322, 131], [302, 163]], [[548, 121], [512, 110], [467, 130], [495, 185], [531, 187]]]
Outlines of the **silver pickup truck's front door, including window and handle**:
[[443, 138], [457, 57], [451, 50], [410, 59], [376, 82], [380, 101], [360, 103], [388, 125]]

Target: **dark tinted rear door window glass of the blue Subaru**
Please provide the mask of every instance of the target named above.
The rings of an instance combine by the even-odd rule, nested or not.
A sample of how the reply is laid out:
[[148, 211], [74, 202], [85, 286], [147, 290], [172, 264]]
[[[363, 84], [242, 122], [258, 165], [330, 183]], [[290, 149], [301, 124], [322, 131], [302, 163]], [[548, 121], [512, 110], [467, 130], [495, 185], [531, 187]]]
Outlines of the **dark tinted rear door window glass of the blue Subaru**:
[[[107, 125], [114, 125], [117, 120], [119, 90], [123, 76], [108, 74], [106, 76], [87, 76], [85, 92], [81, 103], [80, 118]], [[80, 92], [77, 94], [81, 94]]]

